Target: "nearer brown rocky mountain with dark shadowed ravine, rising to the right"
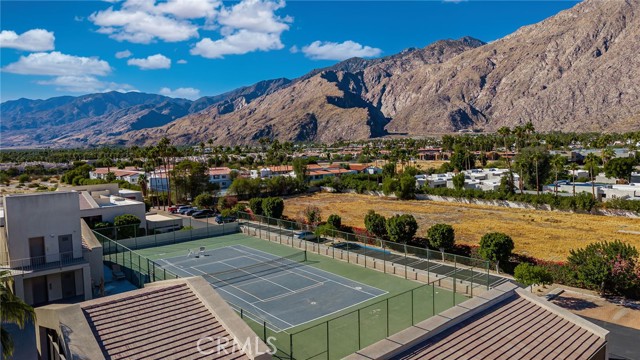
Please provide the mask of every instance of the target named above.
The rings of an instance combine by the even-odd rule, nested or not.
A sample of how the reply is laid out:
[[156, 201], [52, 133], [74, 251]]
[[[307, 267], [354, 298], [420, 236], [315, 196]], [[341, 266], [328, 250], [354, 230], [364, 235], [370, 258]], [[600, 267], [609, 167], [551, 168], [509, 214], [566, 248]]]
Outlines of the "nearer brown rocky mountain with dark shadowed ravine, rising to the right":
[[209, 109], [123, 139], [332, 141], [528, 121], [541, 131], [640, 130], [639, 12], [639, 0], [587, 0], [490, 44], [463, 38], [350, 59], [237, 111]]

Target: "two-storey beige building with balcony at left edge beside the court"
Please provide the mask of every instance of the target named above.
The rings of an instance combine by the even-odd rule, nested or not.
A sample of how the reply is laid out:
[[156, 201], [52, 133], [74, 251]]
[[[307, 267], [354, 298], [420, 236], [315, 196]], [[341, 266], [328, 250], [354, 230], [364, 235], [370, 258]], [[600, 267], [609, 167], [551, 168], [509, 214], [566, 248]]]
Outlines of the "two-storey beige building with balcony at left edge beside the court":
[[31, 305], [89, 300], [103, 277], [102, 247], [80, 219], [80, 193], [4, 197], [0, 268]]

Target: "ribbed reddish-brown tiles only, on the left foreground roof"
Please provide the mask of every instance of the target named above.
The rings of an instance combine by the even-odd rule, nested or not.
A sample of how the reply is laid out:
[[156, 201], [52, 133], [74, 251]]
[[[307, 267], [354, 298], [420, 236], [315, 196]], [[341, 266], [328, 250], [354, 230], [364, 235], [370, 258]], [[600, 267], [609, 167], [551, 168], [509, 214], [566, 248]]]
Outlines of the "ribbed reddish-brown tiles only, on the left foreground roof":
[[[98, 299], [82, 310], [108, 359], [249, 359], [186, 284]], [[215, 351], [216, 341], [200, 347], [213, 354], [199, 353], [197, 342], [205, 337], [229, 339], [228, 354]]]

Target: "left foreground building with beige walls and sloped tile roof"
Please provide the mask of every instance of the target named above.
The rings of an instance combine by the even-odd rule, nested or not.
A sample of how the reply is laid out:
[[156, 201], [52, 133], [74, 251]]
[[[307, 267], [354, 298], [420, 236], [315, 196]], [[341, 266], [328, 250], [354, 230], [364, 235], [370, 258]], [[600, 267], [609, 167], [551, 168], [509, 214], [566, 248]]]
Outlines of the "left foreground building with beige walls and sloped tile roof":
[[41, 359], [267, 360], [272, 349], [202, 277], [36, 308]]

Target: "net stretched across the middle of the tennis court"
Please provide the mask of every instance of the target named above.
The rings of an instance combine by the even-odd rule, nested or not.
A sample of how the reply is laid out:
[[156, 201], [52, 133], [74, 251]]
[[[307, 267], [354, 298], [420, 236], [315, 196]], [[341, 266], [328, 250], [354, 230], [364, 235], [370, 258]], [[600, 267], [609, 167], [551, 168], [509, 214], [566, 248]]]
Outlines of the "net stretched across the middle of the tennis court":
[[307, 261], [307, 252], [300, 251], [292, 255], [256, 262], [255, 264], [236, 267], [234, 269], [206, 273], [203, 276], [212, 278], [218, 287], [225, 284], [236, 284], [250, 279], [264, 277], [280, 271], [300, 266]]

